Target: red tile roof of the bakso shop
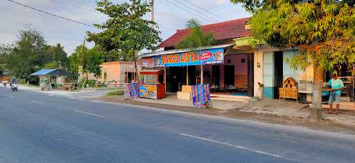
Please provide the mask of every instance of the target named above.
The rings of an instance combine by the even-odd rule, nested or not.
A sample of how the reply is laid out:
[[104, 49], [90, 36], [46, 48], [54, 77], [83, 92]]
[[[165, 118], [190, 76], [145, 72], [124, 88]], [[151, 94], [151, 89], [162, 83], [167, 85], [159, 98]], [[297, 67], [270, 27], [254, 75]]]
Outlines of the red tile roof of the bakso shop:
[[[249, 30], [245, 29], [245, 23], [249, 17], [243, 19], [235, 19], [231, 21], [224, 21], [220, 23], [212, 23], [201, 26], [203, 32], [211, 32], [216, 40], [236, 39], [241, 37], [248, 37], [251, 34]], [[177, 30], [174, 35], [159, 44], [159, 48], [177, 46], [179, 42], [191, 33], [189, 29]]]

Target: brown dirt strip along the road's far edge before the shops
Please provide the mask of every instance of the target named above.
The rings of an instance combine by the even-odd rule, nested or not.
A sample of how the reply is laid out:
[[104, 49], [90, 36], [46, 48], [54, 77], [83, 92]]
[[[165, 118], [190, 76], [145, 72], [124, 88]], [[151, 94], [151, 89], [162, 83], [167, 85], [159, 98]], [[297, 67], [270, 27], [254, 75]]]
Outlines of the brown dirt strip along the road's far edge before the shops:
[[[223, 111], [220, 109], [196, 109], [189, 106], [175, 106], [175, 105], [168, 105], [168, 104], [157, 104], [157, 103], [150, 103], [150, 102], [139, 102], [135, 100], [125, 100], [121, 99], [120, 97], [99, 97], [95, 98], [96, 100], [101, 100], [105, 102], [116, 102], [121, 104], [131, 104], [137, 106], [150, 106], [154, 108], [163, 108], [166, 110], [171, 111], [184, 111], [189, 113], [198, 113], [198, 114], [205, 114], [205, 115], [218, 115], [221, 117], [230, 117], [234, 119], [248, 119], [258, 122], [266, 122], [270, 124], [284, 124], [289, 126], [304, 126], [306, 128], [311, 128], [320, 131], [330, 131], [330, 132], [337, 132], [337, 133], [348, 133], [355, 135], [355, 126], [349, 126], [345, 124], [338, 124], [331, 122], [330, 120], [322, 120], [320, 123], [311, 123], [309, 122], [308, 118], [302, 117], [286, 117], [286, 116], [277, 116], [277, 115], [268, 115], [268, 114], [258, 114], [258, 113], [247, 113], [243, 111], [239, 111], [241, 108], [235, 108], [228, 111]], [[309, 108], [304, 108], [309, 109]], [[346, 114], [354, 115], [355, 111], [342, 111]], [[326, 114], [327, 110], [324, 109], [323, 113]]]

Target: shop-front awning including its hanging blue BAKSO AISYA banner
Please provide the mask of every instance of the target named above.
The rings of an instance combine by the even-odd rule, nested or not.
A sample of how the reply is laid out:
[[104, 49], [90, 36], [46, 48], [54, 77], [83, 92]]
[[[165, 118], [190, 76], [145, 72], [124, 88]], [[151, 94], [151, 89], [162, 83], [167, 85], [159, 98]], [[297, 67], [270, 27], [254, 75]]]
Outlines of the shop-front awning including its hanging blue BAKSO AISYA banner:
[[142, 66], [146, 68], [223, 64], [225, 48], [230, 46], [234, 46], [234, 44], [202, 47], [193, 50], [148, 52], [141, 55], [140, 59]]

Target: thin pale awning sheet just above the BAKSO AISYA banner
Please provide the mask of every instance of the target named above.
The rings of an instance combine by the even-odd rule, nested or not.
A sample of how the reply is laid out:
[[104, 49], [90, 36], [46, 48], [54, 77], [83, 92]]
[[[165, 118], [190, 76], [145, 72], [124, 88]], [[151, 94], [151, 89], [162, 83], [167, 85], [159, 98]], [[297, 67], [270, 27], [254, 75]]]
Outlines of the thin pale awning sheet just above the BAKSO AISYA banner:
[[[218, 45], [218, 46], [206, 46], [202, 48], [196, 48], [195, 50], [208, 50], [208, 49], [213, 49], [213, 48], [227, 48], [230, 46], [234, 46], [235, 44], [223, 44], [223, 45]], [[182, 53], [182, 52], [191, 52], [192, 50], [189, 48], [186, 49], [175, 49], [175, 50], [162, 50], [162, 51], [156, 51], [156, 52], [147, 52], [142, 55], [139, 55], [139, 58], [142, 57], [153, 57], [153, 56], [158, 56], [158, 55], [172, 55], [172, 54], [177, 54], [177, 53]]]

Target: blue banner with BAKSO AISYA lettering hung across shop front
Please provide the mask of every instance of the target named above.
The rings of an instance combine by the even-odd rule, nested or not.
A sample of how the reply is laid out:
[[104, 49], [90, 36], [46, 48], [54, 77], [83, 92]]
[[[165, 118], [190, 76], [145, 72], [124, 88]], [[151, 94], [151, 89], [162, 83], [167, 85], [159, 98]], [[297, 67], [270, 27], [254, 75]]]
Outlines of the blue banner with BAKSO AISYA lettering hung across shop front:
[[200, 64], [223, 64], [224, 48], [182, 52], [142, 58], [144, 67], [193, 66]]

